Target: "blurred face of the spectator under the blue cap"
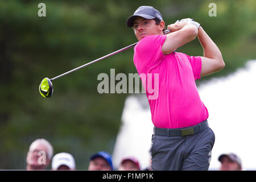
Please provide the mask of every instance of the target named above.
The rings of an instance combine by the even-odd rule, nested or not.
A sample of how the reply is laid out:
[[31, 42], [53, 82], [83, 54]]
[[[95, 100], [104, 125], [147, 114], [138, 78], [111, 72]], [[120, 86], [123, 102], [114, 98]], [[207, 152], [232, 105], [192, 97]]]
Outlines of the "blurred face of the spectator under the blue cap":
[[109, 163], [106, 162], [104, 158], [97, 157], [90, 161], [89, 171], [109, 171], [111, 170], [111, 167], [109, 166]]

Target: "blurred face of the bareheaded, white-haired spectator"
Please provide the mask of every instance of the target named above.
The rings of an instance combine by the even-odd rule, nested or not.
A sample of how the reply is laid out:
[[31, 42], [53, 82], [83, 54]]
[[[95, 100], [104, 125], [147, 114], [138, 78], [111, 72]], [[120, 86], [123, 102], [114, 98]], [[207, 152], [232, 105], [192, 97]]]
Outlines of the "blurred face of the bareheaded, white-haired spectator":
[[[43, 159], [44, 157], [45, 159]], [[31, 148], [30, 151], [27, 152], [27, 164], [35, 168], [46, 168], [49, 164], [47, 146], [43, 143], [37, 143]]]

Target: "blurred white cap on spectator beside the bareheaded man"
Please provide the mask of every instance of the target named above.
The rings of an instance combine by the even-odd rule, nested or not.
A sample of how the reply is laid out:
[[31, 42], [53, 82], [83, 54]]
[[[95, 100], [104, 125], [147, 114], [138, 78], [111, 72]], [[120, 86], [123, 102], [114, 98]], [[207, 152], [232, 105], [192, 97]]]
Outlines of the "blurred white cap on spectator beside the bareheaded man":
[[61, 165], [68, 166], [70, 169], [75, 169], [76, 164], [73, 156], [71, 154], [61, 152], [59, 154], [56, 154], [52, 158], [52, 169], [57, 169]]

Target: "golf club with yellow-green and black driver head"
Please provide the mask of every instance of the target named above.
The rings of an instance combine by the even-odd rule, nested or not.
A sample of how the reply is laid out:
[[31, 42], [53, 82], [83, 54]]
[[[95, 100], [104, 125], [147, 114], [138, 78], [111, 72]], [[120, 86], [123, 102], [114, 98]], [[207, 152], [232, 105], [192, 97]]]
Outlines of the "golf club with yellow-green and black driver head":
[[[169, 34], [171, 32], [171, 30], [165, 30], [164, 31], [164, 34]], [[138, 42], [137, 42], [138, 43]], [[53, 93], [53, 86], [52, 86], [52, 80], [56, 80], [57, 78], [59, 77], [62, 77], [64, 75], [68, 75], [68, 73], [72, 73], [72, 72], [75, 72], [81, 68], [84, 68], [92, 63], [96, 63], [97, 61], [100, 61], [102, 59], [105, 59], [106, 57], [109, 57], [109, 56], [112, 56], [112, 55], [115, 55], [116, 53], [119, 53], [119, 52], [122, 52], [122, 51], [125, 51], [126, 49], [129, 49], [131, 47], [134, 47], [137, 43], [134, 43], [134, 44], [131, 44], [130, 46], [127, 46], [127, 47], [124, 47], [122, 49], [119, 49], [118, 51], [115, 51], [115, 52], [112, 52], [112, 53], [109, 53], [108, 55], [106, 56], [103, 56], [103, 57], [100, 57], [94, 61], [91, 61], [89, 63], [86, 63], [84, 65], [81, 65], [80, 67], [77, 67], [75, 69], [72, 69], [71, 71], [68, 71], [68, 72], [65, 72], [59, 76], [56, 76], [54, 78], [43, 78], [43, 80], [41, 81], [40, 85], [39, 85], [39, 92], [41, 94], [41, 96], [43, 96], [44, 98], [49, 98], [52, 96], [52, 93]]]

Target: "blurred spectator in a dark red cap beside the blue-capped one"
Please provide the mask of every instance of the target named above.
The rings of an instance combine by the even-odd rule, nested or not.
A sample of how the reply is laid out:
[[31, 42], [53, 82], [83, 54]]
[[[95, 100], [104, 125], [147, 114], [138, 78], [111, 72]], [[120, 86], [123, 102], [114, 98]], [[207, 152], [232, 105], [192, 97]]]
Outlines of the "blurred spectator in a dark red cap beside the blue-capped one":
[[134, 157], [124, 158], [118, 168], [119, 171], [140, 171], [139, 161]]

